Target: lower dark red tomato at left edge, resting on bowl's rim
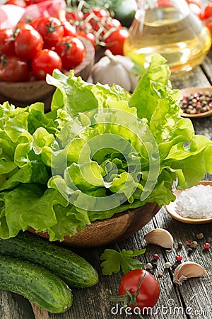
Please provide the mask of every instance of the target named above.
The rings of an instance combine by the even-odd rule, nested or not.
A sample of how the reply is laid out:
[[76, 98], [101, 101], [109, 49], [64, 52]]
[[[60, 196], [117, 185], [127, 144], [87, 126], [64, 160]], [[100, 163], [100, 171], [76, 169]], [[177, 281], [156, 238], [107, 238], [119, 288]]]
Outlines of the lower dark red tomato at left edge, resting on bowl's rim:
[[0, 79], [6, 82], [25, 82], [28, 80], [28, 64], [16, 55], [1, 55]]

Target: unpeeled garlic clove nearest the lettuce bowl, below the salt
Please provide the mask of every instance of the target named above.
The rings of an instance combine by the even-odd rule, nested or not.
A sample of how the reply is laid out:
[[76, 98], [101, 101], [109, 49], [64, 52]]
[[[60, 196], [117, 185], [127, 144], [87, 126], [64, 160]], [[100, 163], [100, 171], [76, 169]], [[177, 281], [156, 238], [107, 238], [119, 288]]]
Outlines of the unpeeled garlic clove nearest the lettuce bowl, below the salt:
[[146, 241], [146, 245], [158, 245], [167, 248], [168, 250], [172, 250], [173, 248], [173, 237], [163, 228], [155, 228], [154, 230], [151, 230], [151, 232], [144, 235], [144, 239]]

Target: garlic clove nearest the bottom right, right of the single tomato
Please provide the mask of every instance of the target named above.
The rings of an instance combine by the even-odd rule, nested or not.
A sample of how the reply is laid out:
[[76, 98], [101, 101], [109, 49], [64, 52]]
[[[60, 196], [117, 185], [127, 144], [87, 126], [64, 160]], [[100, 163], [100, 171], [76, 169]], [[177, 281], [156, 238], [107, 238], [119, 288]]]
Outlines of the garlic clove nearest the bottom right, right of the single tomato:
[[205, 274], [207, 274], [206, 269], [201, 267], [200, 264], [196, 262], [183, 262], [175, 269], [173, 281], [175, 284], [182, 285], [182, 281], [186, 279], [201, 277]]

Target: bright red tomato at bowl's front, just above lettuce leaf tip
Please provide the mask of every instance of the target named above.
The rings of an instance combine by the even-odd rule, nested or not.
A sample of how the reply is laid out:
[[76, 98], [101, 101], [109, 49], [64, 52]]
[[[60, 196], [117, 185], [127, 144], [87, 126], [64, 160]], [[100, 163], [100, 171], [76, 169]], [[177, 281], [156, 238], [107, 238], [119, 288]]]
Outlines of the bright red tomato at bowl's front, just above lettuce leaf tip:
[[36, 79], [45, 79], [47, 74], [52, 75], [54, 69], [61, 68], [61, 57], [53, 50], [40, 50], [33, 57], [32, 69]]

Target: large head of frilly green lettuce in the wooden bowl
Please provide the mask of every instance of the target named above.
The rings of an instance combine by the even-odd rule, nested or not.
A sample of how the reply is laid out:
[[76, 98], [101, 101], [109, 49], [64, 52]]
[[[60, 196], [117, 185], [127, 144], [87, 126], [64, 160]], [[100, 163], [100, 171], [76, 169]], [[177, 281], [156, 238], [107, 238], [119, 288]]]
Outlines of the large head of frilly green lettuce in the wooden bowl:
[[160, 55], [133, 94], [54, 70], [51, 111], [0, 106], [0, 237], [33, 227], [63, 240], [94, 220], [175, 200], [212, 174], [212, 142], [181, 117]]

